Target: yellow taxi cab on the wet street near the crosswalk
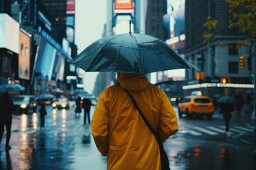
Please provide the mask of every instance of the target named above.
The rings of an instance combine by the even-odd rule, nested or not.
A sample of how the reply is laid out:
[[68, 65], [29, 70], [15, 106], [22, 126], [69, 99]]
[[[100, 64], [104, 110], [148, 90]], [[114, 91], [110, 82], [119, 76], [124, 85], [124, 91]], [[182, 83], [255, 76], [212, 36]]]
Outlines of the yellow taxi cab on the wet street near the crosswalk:
[[214, 112], [213, 102], [208, 96], [186, 96], [178, 103], [178, 115], [182, 117], [183, 113], [191, 115], [206, 115], [211, 119]]

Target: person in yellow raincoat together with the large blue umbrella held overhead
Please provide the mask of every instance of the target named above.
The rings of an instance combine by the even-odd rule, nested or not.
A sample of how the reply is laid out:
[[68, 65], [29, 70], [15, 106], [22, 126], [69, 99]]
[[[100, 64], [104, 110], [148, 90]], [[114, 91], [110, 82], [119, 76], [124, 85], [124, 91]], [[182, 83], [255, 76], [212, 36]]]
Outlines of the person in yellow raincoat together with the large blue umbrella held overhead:
[[178, 131], [176, 113], [144, 74], [189, 69], [186, 60], [166, 42], [130, 29], [93, 42], [71, 64], [85, 72], [117, 72], [117, 84], [102, 91], [91, 121], [107, 169], [170, 169], [162, 151], [163, 142]]

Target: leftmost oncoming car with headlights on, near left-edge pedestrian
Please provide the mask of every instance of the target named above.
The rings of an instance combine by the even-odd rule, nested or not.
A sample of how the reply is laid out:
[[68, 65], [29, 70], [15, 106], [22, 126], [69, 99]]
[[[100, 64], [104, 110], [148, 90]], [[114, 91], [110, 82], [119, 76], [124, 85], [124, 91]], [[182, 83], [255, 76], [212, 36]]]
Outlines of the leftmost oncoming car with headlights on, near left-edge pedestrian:
[[33, 95], [18, 95], [14, 97], [14, 111], [20, 113], [28, 113], [28, 111], [36, 112], [37, 106], [38, 104]]

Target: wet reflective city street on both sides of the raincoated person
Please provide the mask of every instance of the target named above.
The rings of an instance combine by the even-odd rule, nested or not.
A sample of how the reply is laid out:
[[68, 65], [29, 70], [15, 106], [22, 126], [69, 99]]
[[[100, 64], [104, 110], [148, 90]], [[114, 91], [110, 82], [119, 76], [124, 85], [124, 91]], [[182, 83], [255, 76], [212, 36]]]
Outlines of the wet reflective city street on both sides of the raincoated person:
[[[47, 106], [44, 130], [38, 113], [15, 114], [11, 149], [4, 149], [6, 133], [1, 141], [0, 169], [106, 169], [107, 159], [97, 151], [90, 125], [83, 124], [83, 113], [75, 115], [73, 104], [58, 111]], [[93, 111], [94, 106], [91, 116]], [[178, 133], [164, 143], [171, 169], [256, 169], [256, 145], [239, 140], [252, 134], [250, 120], [234, 117], [230, 137], [223, 135], [220, 113], [212, 120], [184, 117], [178, 123]]]

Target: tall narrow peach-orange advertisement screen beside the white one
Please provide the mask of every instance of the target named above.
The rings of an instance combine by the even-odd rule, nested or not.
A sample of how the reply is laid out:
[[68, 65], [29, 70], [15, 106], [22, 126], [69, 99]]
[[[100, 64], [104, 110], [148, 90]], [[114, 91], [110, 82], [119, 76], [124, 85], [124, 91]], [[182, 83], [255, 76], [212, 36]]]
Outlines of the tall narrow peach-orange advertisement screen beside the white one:
[[30, 79], [30, 47], [30, 38], [20, 31], [18, 52], [18, 77], [20, 79]]

